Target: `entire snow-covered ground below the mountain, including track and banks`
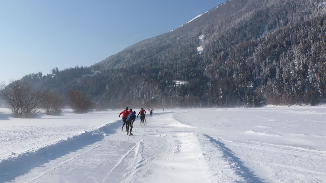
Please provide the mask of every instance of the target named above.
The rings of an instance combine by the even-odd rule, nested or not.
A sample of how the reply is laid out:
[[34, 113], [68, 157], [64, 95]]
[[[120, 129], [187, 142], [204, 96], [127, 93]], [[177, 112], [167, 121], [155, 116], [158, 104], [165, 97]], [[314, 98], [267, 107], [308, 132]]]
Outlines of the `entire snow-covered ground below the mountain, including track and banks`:
[[0, 109], [0, 182], [326, 182], [325, 106], [121, 111]]

